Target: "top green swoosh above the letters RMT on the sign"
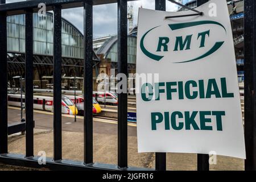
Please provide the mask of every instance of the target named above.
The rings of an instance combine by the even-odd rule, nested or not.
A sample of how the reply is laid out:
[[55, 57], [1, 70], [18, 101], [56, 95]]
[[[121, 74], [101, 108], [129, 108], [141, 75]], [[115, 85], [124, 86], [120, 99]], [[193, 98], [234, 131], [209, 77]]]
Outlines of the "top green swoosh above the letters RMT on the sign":
[[171, 30], [178, 30], [181, 28], [187, 28], [187, 27], [193, 27], [193, 26], [198, 26], [201, 24], [217, 24], [218, 26], [221, 26], [222, 28], [224, 28], [225, 32], [226, 32], [226, 28], [218, 23], [218, 22], [214, 22], [211, 20], [203, 20], [203, 21], [197, 21], [197, 22], [185, 22], [185, 23], [174, 23], [174, 24], [168, 24], [168, 26], [171, 28]]

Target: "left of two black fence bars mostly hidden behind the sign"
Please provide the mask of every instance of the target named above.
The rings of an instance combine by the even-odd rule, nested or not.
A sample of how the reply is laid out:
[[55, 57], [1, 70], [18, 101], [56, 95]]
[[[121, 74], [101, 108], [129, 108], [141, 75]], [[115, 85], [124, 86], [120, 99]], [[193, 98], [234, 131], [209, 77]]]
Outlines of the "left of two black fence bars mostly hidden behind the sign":
[[[155, 10], [166, 11], [166, 0], [155, 0]], [[155, 153], [155, 169], [157, 171], [166, 171], [166, 153]]]

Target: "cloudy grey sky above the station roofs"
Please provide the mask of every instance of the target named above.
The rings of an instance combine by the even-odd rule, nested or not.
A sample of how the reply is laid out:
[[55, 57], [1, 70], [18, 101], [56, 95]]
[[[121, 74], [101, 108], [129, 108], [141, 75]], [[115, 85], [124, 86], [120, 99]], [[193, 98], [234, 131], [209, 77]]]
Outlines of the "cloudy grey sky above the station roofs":
[[[18, 2], [22, 0], [7, 0], [6, 2]], [[42, 1], [43, 2], [43, 1]], [[133, 26], [137, 24], [139, 7], [154, 9], [155, 0], [140, 0], [128, 2], [128, 5], [133, 6]], [[175, 11], [177, 6], [171, 2], [166, 3], [167, 11]], [[74, 24], [81, 32], [83, 32], [83, 8], [66, 9], [62, 11], [63, 18]], [[117, 3], [109, 5], [93, 6], [93, 37], [99, 38], [102, 36], [117, 34]]]

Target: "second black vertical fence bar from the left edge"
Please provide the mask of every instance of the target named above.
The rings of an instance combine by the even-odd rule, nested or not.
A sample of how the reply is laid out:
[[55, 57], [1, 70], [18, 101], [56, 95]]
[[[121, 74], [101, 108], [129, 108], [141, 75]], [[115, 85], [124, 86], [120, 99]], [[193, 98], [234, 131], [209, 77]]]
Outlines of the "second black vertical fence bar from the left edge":
[[[34, 156], [34, 114], [33, 114], [33, 16], [32, 10], [26, 10], [26, 157]], [[20, 77], [22, 79], [22, 77]], [[20, 81], [22, 83], [22, 80]], [[22, 92], [22, 90], [20, 90]]]

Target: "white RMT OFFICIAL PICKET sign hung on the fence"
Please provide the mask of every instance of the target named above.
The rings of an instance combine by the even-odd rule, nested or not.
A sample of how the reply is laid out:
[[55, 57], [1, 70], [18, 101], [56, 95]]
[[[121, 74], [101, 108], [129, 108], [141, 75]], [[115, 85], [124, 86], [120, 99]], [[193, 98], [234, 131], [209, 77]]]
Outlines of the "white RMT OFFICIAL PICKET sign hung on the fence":
[[245, 159], [228, 7], [212, 0], [196, 10], [204, 15], [166, 19], [195, 12], [139, 9], [138, 151]]

